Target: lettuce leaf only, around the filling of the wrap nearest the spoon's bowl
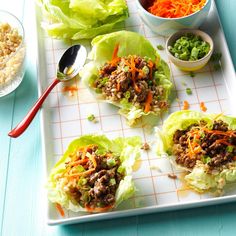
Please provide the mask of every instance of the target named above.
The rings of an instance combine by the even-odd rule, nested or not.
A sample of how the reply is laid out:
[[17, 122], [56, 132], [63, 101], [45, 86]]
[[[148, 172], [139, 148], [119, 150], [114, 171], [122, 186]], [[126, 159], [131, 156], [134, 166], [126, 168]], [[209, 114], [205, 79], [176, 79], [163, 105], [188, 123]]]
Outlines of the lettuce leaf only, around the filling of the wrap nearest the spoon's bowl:
[[92, 60], [84, 66], [80, 72], [83, 82], [98, 100], [112, 103], [120, 108], [119, 113], [126, 117], [128, 125], [133, 125], [142, 116], [150, 114], [160, 115], [161, 110], [155, 112], [145, 113], [143, 109], [135, 107], [126, 99], [120, 102], [106, 100], [101, 91], [93, 88], [95, 80], [99, 76], [99, 69], [107, 61], [112, 58], [112, 53], [115, 46], [119, 44], [118, 56], [137, 55], [141, 57], [148, 57], [156, 62], [158, 70], [155, 72], [155, 79], [159, 85], [164, 88], [164, 98], [166, 101], [170, 100], [171, 90], [173, 85], [170, 81], [170, 70], [166, 62], [164, 62], [157, 51], [153, 48], [151, 43], [143, 36], [129, 31], [119, 31], [106, 35], [97, 36], [92, 40], [92, 50], [89, 54], [89, 59]]

